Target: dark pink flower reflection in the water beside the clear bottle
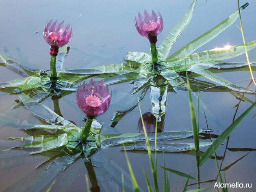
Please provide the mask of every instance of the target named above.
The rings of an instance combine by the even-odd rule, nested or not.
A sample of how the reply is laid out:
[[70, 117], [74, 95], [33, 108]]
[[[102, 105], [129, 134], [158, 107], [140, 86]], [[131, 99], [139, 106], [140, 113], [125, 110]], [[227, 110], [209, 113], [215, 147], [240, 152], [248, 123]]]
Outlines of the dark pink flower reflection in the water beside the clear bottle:
[[[142, 115], [143, 122], [146, 128], [147, 133], [155, 133], [156, 132], [156, 117], [151, 112], [146, 112]], [[160, 125], [158, 125], [160, 127]], [[162, 125], [161, 131], [163, 132], [164, 126]], [[137, 127], [139, 133], [143, 133], [143, 125], [141, 118], [139, 118], [138, 127]]]

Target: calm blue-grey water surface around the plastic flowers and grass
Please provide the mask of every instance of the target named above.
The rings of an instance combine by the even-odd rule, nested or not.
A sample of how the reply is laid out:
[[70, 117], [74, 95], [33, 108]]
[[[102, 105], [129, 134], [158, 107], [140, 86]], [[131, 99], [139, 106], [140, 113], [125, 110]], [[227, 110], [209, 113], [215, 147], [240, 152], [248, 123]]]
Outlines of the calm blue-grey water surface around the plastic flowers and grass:
[[[90, 68], [100, 65], [121, 63], [126, 52], [146, 52], [149, 53], [150, 44], [146, 38], [141, 37], [136, 31], [134, 17], [137, 12], [144, 9], [160, 11], [163, 17], [164, 29], [158, 35], [157, 46], [161, 44], [169, 31], [175, 26], [179, 19], [189, 8], [192, 1], [188, 0], [108, 0], [108, 1], [17, 1], [8, 0], [1, 1], [2, 17], [0, 17], [1, 36], [0, 36], [0, 52], [8, 55], [30, 69], [48, 70], [50, 67], [49, 46], [43, 39], [43, 27], [46, 20], [59, 19], [70, 22], [74, 29], [69, 54], [65, 58], [65, 69], [81, 69]], [[241, 0], [240, 4], [247, 1]], [[247, 42], [255, 40], [255, 18], [256, 18], [256, 2], [250, 0], [249, 6], [242, 12], [243, 28], [245, 39]], [[190, 24], [182, 32], [171, 53], [179, 50], [202, 33], [206, 32], [213, 26], [219, 24], [223, 19], [236, 11], [237, 2], [234, 0], [198, 0], [195, 7], [193, 17]], [[243, 43], [239, 19], [232, 26], [222, 32], [218, 37], [200, 47], [197, 52], [214, 49], [216, 47], [225, 47], [226, 45], [237, 45]], [[250, 60], [256, 61], [256, 50], [249, 52]], [[233, 58], [232, 62], [246, 62], [245, 54]], [[7, 82], [22, 76], [11, 71], [7, 67], [0, 66], [0, 82]], [[246, 87], [250, 83], [250, 74], [247, 68], [241, 68], [240, 71], [218, 73], [219, 76], [227, 80]], [[206, 80], [205, 78], [198, 78]], [[213, 82], [211, 82], [213, 83]], [[122, 111], [133, 106], [140, 94], [131, 95], [133, 86], [130, 82], [124, 82], [110, 86], [112, 90], [112, 101], [108, 111], [102, 116], [98, 116], [97, 120], [104, 123], [102, 134], [119, 134], [119, 133], [137, 133], [138, 121], [140, 119], [139, 108], [136, 107], [127, 113], [121, 121], [113, 128], [111, 127], [111, 118], [117, 111]], [[255, 89], [254, 85], [250, 86]], [[234, 92], [232, 92], [234, 93]], [[197, 95], [197, 93], [195, 93]], [[255, 102], [256, 97], [252, 94], [245, 94], [247, 99]], [[0, 92], [0, 109], [4, 114], [15, 106], [19, 97], [15, 94]], [[59, 99], [59, 106], [63, 117], [69, 121], [75, 122], [78, 126], [84, 124], [84, 114], [74, 102], [76, 92], [66, 95]], [[197, 98], [193, 97], [194, 103], [197, 104]], [[207, 128], [204, 118], [206, 113], [208, 126], [213, 129], [212, 134], [219, 135], [223, 130], [232, 123], [232, 119], [236, 112], [236, 106], [239, 104], [239, 98], [231, 94], [230, 91], [216, 92], [207, 90], [200, 92], [200, 99], [203, 104], [200, 105], [200, 128]], [[54, 109], [51, 98], [42, 102], [50, 109]], [[241, 115], [252, 104], [246, 100], [242, 100], [236, 118]], [[148, 91], [141, 101], [142, 114], [152, 111], [150, 92]], [[22, 119], [24, 122], [40, 123], [40, 121], [30, 114], [26, 108], [20, 107], [15, 109], [15, 117]], [[256, 178], [256, 130], [255, 122], [256, 110], [252, 110], [243, 122], [231, 134], [226, 147], [226, 142], [217, 149], [216, 153], [219, 157], [219, 165], [222, 163], [222, 157], [226, 150], [226, 155], [221, 169], [225, 171], [227, 183], [252, 183], [252, 188], [231, 188], [232, 192], [254, 192]], [[167, 112], [164, 120], [164, 131], [181, 131], [191, 129], [191, 117], [189, 111], [189, 101], [187, 91], [179, 93], [169, 92], [167, 99]], [[1, 150], [9, 149], [17, 144], [18, 141], [2, 142], [9, 137], [22, 137], [27, 134], [13, 127], [0, 127], [0, 145]], [[202, 138], [204, 136], [202, 135]], [[202, 142], [210, 142], [210, 139], [200, 140]], [[192, 143], [193, 138], [182, 140], [184, 143]], [[246, 148], [246, 149], [245, 149]], [[202, 148], [205, 151], [207, 148]], [[25, 154], [25, 151], [24, 151]], [[147, 153], [129, 152], [129, 159], [135, 172], [135, 177], [139, 186], [147, 191], [143, 170], [147, 173], [150, 181], [153, 183], [150, 170], [150, 162]], [[21, 155], [21, 163], [17, 166], [0, 167], [0, 191], [12, 186], [20, 179], [27, 177], [28, 182], [22, 185], [28, 185], [30, 177], [40, 178], [43, 170], [49, 164], [43, 165], [35, 169], [37, 165], [45, 161], [47, 157], [40, 155]], [[167, 167], [189, 173], [196, 177], [195, 156], [190, 153], [158, 153], [158, 164], [163, 165], [163, 158]], [[11, 159], [10, 159], [11, 161]], [[95, 164], [94, 170], [99, 182], [101, 192], [122, 191], [118, 186], [117, 178], [121, 180], [121, 173], [129, 174], [126, 158], [121, 147], [111, 149], [100, 149], [93, 156]], [[15, 164], [15, 162], [13, 162]], [[106, 171], [105, 166], [113, 165], [113, 169]], [[118, 171], [117, 171], [118, 170]], [[56, 183], [52, 187], [51, 192], [62, 191], [86, 191], [85, 174], [88, 175], [87, 168], [83, 159], [79, 159], [66, 170], [60, 173], [56, 178]], [[114, 175], [114, 176], [113, 176]], [[173, 173], [169, 174], [171, 190], [180, 192], [183, 190], [186, 178], [179, 177]], [[201, 187], [214, 186], [217, 177], [217, 169], [214, 159], [209, 159], [200, 168]], [[115, 178], [115, 179], [113, 179]], [[54, 181], [54, 179], [52, 181]], [[158, 181], [161, 191], [163, 191], [163, 169], [158, 168]], [[43, 181], [43, 180], [42, 180]], [[46, 191], [52, 182], [48, 183], [41, 191]], [[111, 189], [104, 188], [105, 183], [111, 186]], [[196, 183], [189, 181], [188, 190], [195, 189]], [[40, 183], [43, 185], [43, 183]], [[19, 191], [19, 190], [17, 190]], [[126, 189], [127, 192], [131, 191]], [[206, 191], [217, 191], [210, 189]]]

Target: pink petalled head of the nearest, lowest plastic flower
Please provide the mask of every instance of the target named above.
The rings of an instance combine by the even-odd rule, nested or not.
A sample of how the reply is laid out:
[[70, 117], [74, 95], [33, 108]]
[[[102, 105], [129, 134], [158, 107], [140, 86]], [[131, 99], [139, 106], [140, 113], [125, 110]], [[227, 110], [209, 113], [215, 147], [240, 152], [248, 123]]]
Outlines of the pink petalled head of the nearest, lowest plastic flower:
[[108, 93], [108, 85], [103, 85], [103, 81], [98, 83], [92, 79], [89, 83], [78, 86], [76, 93], [76, 104], [84, 112], [87, 118], [92, 119], [108, 110], [112, 94]]

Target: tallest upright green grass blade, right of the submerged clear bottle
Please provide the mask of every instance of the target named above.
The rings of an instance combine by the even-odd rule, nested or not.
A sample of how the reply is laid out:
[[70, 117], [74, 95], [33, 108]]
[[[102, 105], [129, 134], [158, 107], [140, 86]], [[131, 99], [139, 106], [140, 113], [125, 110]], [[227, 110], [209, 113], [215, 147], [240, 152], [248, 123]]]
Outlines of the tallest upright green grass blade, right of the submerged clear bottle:
[[[186, 76], [188, 77], [188, 73], [186, 71]], [[192, 95], [191, 95], [191, 88], [189, 84], [189, 79], [187, 78], [187, 86], [188, 86], [188, 93], [189, 93], [189, 108], [190, 108], [190, 115], [191, 115], [191, 124], [193, 129], [193, 138], [195, 144], [195, 156], [196, 156], [196, 166], [197, 166], [197, 189], [200, 188], [200, 151], [199, 151], [199, 133], [197, 129], [197, 122], [195, 117], [195, 108], [193, 105]]]

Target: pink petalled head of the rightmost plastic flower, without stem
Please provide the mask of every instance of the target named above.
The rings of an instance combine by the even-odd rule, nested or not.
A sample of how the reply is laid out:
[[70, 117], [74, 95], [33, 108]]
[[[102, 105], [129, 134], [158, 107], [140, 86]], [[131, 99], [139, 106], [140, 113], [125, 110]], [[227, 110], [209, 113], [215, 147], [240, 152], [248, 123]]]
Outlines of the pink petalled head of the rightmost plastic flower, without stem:
[[[158, 16], [152, 10], [152, 15], [144, 11], [144, 17], [138, 13], [138, 19], [135, 17], [135, 26], [140, 35], [147, 38], [156, 37], [163, 31], [163, 19], [158, 12]], [[156, 43], [156, 42], [155, 42]]]

